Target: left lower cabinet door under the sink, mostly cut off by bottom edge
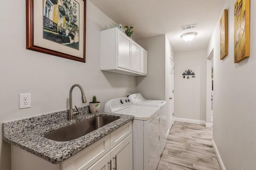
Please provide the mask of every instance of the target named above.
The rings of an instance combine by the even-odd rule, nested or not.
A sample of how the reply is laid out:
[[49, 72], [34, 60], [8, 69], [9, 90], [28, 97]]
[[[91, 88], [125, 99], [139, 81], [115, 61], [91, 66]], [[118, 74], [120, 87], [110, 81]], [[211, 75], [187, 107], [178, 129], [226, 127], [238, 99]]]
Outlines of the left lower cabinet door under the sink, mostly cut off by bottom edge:
[[110, 170], [110, 159], [110, 152], [108, 152], [108, 154], [100, 158], [100, 160], [95, 162], [88, 170]]

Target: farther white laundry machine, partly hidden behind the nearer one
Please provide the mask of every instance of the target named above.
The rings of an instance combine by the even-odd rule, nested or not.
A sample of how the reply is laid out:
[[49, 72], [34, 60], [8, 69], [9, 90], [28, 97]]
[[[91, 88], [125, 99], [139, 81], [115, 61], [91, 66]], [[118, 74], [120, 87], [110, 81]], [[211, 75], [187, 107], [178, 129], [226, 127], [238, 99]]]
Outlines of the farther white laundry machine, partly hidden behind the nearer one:
[[151, 107], [160, 107], [160, 146], [159, 152], [162, 154], [166, 144], [167, 137], [169, 135], [167, 127], [167, 109], [166, 101], [163, 100], [147, 100], [140, 93], [129, 95], [130, 101], [134, 105], [139, 106], [151, 106]]

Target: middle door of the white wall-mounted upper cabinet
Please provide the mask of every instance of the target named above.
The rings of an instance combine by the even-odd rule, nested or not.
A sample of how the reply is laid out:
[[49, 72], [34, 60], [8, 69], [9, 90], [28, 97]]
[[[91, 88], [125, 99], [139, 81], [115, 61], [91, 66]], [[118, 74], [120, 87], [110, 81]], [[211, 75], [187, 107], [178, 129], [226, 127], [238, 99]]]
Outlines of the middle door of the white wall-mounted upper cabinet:
[[140, 72], [140, 46], [132, 42], [131, 70]]

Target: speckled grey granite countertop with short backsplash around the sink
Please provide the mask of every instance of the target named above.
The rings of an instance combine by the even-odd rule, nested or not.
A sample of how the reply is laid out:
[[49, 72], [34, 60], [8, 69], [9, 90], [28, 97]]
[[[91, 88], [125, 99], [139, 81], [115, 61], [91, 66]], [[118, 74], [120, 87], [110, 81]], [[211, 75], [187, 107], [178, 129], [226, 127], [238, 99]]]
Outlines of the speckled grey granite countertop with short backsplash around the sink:
[[[134, 119], [134, 116], [114, 113], [90, 114], [88, 106], [78, 109], [80, 114], [74, 117], [73, 122], [67, 120], [68, 113], [66, 110], [3, 123], [3, 140], [53, 164], [58, 164]], [[119, 119], [70, 141], [58, 142], [43, 137], [43, 134], [52, 130], [97, 116]]]

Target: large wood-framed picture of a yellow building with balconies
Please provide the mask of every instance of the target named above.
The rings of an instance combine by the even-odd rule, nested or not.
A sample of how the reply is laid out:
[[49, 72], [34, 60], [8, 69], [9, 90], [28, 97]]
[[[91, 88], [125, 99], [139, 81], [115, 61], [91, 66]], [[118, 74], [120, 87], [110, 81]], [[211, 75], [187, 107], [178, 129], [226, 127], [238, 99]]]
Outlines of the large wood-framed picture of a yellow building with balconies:
[[86, 0], [26, 0], [26, 48], [85, 62]]

